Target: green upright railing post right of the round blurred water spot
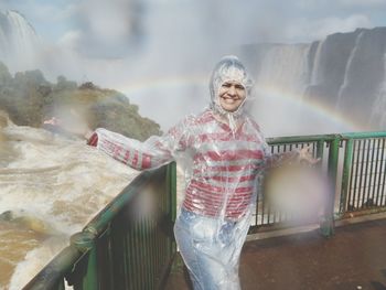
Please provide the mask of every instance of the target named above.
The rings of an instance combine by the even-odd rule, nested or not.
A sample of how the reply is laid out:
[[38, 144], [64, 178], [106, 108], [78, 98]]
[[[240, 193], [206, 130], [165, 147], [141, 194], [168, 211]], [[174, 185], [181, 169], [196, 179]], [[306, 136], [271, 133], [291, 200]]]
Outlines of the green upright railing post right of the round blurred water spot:
[[326, 197], [325, 210], [324, 210], [324, 219], [321, 221], [320, 230], [324, 237], [331, 237], [334, 234], [334, 203], [335, 203], [335, 192], [336, 192], [336, 173], [337, 173], [337, 160], [339, 160], [339, 144], [341, 138], [339, 135], [330, 141], [329, 150], [329, 181], [330, 181], [330, 191], [329, 196]]

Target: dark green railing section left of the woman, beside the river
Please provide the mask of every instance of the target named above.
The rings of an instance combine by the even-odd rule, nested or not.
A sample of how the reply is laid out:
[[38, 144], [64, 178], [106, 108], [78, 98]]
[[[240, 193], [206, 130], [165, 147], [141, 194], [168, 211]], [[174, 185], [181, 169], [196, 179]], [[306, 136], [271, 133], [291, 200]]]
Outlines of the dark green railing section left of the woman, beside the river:
[[23, 289], [162, 289], [176, 251], [175, 164], [143, 172]]

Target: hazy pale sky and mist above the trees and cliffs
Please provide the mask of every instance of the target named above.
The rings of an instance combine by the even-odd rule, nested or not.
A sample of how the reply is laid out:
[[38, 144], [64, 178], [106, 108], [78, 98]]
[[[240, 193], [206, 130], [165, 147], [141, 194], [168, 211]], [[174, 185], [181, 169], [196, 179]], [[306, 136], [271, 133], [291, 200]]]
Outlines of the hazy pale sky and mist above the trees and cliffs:
[[[0, 0], [9, 9], [50, 47], [49, 79], [62, 74], [118, 89], [163, 128], [203, 107], [212, 67], [240, 45], [386, 26], [386, 0]], [[150, 99], [181, 109], [175, 119], [159, 116]]]

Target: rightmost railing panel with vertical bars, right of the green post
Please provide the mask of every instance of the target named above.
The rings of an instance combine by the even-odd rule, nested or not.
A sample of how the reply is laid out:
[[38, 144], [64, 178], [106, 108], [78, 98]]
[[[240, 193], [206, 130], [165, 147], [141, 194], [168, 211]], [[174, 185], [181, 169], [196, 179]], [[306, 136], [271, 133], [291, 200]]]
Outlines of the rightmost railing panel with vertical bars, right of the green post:
[[344, 163], [340, 217], [375, 213], [386, 206], [386, 132], [342, 135]]

